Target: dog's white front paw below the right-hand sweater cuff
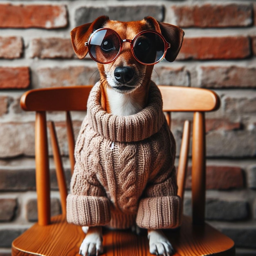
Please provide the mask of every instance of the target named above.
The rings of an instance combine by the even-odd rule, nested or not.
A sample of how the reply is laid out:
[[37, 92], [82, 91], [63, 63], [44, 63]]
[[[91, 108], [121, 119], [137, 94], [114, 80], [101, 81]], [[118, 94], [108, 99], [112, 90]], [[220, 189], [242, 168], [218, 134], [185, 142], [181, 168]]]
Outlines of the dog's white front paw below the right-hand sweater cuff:
[[149, 230], [149, 252], [156, 255], [171, 256], [174, 254], [174, 249], [168, 238], [161, 230]]

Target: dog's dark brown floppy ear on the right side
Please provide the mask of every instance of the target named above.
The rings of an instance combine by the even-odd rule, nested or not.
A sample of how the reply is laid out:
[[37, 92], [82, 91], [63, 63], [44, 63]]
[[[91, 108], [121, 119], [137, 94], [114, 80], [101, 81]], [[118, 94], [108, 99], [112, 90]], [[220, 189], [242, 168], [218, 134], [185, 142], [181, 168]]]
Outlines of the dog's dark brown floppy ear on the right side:
[[177, 26], [159, 22], [153, 17], [145, 17], [145, 20], [149, 22], [156, 29], [157, 32], [161, 33], [165, 40], [171, 44], [171, 48], [167, 50], [165, 59], [167, 61], [174, 61], [180, 52], [182, 46], [184, 31]]

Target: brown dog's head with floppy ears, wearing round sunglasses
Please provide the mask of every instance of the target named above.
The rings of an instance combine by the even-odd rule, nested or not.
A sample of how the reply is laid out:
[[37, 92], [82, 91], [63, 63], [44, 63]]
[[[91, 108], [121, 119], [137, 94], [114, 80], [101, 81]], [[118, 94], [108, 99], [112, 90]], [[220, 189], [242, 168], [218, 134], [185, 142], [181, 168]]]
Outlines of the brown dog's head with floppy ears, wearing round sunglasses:
[[[140, 34], [142, 31], [145, 32]], [[89, 51], [98, 62], [101, 79], [122, 93], [148, 85], [153, 65], [162, 57], [174, 61], [183, 36], [179, 27], [158, 22], [152, 17], [120, 22], [101, 16], [71, 31], [76, 55], [84, 58]]]

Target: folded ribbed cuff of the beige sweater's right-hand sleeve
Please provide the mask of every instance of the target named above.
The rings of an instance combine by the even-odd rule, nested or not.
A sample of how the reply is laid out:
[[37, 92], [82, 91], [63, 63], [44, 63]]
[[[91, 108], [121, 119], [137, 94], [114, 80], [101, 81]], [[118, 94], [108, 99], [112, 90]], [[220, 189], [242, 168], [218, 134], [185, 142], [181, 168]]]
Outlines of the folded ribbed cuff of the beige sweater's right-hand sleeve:
[[181, 225], [179, 196], [143, 198], [139, 202], [137, 225], [146, 229], [171, 229]]

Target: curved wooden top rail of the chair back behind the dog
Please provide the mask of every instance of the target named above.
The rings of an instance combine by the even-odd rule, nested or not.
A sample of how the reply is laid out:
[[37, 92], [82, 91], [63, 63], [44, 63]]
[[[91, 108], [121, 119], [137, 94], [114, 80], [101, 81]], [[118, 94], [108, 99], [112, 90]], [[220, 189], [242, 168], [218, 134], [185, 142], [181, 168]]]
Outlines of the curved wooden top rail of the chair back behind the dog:
[[[213, 111], [220, 106], [217, 94], [202, 88], [158, 86], [163, 97], [164, 111]], [[25, 92], [20, 104], [27, 111], [80, 111], [87, 109], [92, 85], [42, 88]]]

